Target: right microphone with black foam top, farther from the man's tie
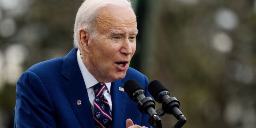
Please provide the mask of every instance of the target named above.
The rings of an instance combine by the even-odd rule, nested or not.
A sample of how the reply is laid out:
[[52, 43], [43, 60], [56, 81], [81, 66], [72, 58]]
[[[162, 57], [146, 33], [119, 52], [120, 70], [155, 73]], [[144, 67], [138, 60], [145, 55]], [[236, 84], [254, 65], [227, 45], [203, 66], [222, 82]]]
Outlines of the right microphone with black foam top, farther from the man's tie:
[[156, 102], [162, 104], [162, 110], [166, 114], [173, 114], [177, 120], [186, 120], [179, 110], [180, 102], [175, 97], [170, 97], [170, 93], [160, 81], [153, 80], [150, 82], [148, 84], [148, 91]]

